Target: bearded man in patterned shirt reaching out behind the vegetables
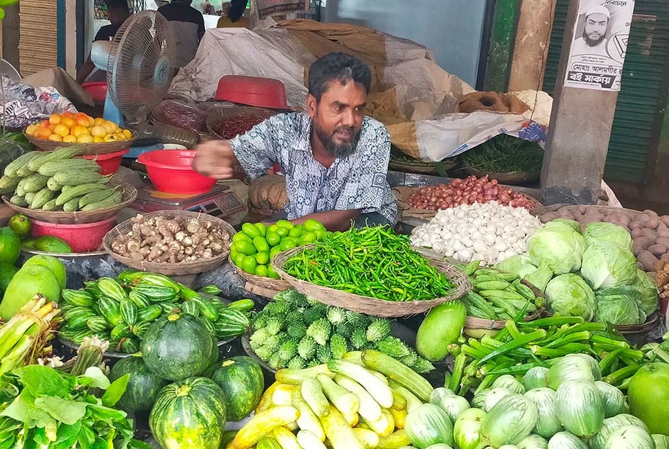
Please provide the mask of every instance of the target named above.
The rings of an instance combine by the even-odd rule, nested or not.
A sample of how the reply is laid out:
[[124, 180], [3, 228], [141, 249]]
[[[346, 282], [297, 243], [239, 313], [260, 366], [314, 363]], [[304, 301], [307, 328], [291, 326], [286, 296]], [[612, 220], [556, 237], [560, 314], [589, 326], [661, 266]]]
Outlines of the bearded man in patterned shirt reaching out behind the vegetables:
[[229, 179], [241, 165], [252, 178], [278, 164], [286, 177], [285, 217], [318, 220], [329, 231], [394, 225], [397, 205], [386, 181], [388, 131], [365, 116], [369, 67], [329, 53], [309, 69], [306, 112], [278, 114], [229, 141], [197, 146], [193, 168]]

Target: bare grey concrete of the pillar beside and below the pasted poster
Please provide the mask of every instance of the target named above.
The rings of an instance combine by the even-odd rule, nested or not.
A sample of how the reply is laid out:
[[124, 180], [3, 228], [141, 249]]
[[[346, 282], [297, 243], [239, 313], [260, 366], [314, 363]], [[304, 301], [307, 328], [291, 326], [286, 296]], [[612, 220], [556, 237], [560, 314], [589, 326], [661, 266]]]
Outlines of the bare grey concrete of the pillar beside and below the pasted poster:
[[564, 87], [579, 3], [569, 0], [541, 176], [544, 204], [596, 204], [616, 112], [616, 91]]

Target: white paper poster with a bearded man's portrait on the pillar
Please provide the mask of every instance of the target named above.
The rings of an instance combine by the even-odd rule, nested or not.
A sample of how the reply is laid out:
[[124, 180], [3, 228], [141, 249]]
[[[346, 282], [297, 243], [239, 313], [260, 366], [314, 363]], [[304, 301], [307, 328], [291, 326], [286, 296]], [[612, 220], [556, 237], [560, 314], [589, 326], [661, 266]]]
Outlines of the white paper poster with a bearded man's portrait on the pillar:
[[619, 91], [634, 0], [580, 0], [564, 85]]

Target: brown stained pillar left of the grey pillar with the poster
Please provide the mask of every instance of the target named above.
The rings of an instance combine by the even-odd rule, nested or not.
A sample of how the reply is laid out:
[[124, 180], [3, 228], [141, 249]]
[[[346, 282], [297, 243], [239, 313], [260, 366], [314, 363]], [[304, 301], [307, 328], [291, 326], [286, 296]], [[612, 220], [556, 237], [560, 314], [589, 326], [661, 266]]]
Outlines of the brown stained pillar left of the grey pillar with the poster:
[[522, 0], [513, 46], [509, 91], [541, 90], [557, 0]]

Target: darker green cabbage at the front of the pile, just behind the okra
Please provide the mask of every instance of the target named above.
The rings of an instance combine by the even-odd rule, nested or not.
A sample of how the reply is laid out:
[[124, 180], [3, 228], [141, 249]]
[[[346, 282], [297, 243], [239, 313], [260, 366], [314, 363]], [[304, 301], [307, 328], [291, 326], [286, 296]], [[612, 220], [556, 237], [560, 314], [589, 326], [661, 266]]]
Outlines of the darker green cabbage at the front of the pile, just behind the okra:
[[641, 324], [645, 313], [639, 310], [641, 293], [635, 288], [603, 288], [595, 292], [597, 301], [596, 321], [610, 324]]

